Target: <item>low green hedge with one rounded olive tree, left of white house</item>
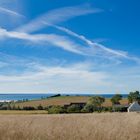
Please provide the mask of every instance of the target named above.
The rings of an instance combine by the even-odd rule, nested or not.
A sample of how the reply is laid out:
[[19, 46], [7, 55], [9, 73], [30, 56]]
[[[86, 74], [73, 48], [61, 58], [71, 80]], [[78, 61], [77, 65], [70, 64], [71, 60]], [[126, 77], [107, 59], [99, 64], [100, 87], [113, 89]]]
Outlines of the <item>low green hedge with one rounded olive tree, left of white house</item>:
[[[80, 105], [71, 105], [67, 108], [61, 106], [52, 106], [48, 108], [49, 114], [61, 114], [61, 113], [92, 113], [92, 112], [126, 112], [125, 107], [104, 107], [102, 104], [105, 102], [105, 98], [101, 96], [91, 97], [84, 107]], [[118, 103], [118, 102], [117, 102]]]

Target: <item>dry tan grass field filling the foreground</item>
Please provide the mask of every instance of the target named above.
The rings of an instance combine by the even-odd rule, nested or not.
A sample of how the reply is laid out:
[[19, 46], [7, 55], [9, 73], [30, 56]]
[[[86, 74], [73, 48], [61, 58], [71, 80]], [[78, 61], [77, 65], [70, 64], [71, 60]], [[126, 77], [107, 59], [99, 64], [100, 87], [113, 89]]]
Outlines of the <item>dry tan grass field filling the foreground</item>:
[[0, 140], [140, 140], [140, 114], [0, 115]]

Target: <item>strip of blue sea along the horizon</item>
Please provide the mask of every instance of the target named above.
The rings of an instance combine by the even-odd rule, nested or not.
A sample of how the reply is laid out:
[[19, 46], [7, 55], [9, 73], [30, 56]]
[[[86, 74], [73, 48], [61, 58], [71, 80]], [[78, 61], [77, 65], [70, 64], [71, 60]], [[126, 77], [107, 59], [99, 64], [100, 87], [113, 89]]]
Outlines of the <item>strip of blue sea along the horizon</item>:
[[[41, 98], [47, 98], [56, 94], [0, 94], [0, 101], [11, 101], [11, 100], [36, 100]], [[70, 95], [70, 96], [94, 96], [100, 95], [105, 98], [111, 98], [114, 94], [61, 94], [61, 95]], [[127, 97], [127, 94], [122, 94], [124, 98]]]

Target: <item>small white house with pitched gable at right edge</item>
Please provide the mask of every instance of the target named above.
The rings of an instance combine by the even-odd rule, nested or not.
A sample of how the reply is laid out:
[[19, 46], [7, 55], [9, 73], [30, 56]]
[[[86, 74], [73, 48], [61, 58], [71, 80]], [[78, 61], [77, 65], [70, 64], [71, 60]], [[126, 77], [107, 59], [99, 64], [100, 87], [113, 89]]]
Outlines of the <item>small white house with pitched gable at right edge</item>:
[[128, 112], [140, 112], [140, 105], [138, 102], [133, 102], [127, 109]]

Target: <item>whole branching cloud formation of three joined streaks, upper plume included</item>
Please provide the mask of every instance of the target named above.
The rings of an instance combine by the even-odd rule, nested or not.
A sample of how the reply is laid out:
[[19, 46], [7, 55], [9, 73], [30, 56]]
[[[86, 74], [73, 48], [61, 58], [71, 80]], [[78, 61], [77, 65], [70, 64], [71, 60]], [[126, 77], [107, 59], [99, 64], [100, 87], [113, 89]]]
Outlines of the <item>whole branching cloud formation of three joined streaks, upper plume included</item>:
[[[56, 26], [54, 23], [66, 21], [70, 18], [85, 15], [89, 13], [98, 13], [101, 12], [100, 9], [94, 9], [89, 6], [73, 6], [73, 7], [64, 7], [52, 10], [42, 16], [38, 17], [37, 19], [31, 21], [30, 23], [19, 27], [15, 31], [7, 31], [5, 29], [0, 29], [0, 36], [2, 37], [9, 37], [9, 38], [17, 38], [27, 41], [32, 41], [34, 43], [37, 42], [48, 42], [53, 46], [59, 47], [66, 51], [80, 54], [80, 55], [88, 55], [88, 56], [95, 56], [100, 55], [102, 57], [109, 56], [116, 58], [124, 58], [130, 59], [134, 61], [139, 61], [138, 58], [130, 57], [127, 52], [120, 51], [120, 50], [113, 50], [110, 49], [100, 43], [93, 42], [87, 39], [83, 35], [79, 35], [67, 28]], [[47, 20], [47, 22], [46, 22]], [[40, 30], [46, 26], [53, 26], [56, 29], [67, 33], [68, 36], [62, 36], [59, 34], [30, 34], [30, 32], [34, 32]], [[85, 44], [79, 44], [77, 41], [72, 40], [70, 36], [73, 36]]]

